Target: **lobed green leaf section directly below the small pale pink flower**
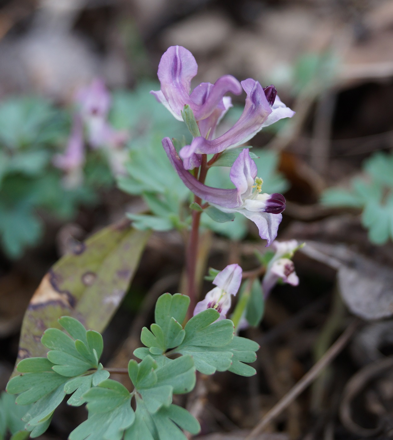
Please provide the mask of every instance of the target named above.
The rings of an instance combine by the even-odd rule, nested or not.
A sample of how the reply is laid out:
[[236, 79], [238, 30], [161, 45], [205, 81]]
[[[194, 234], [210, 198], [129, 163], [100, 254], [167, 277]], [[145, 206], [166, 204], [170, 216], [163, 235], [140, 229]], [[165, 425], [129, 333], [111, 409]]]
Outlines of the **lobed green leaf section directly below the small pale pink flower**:
[[[253, 362], [258, 345], [244, 338], [234, 338], [232, 321], [217, 321], [220, 314], [213, 308], [193, 316], [183, 330], [179, 323], [184, 320], [188, 305], [188, 297], [179, 293], [162, 295], [156, 305], [156, 323], [151, 325], [151, 331], [146, 327], [142, 330], [141, 341], [146, 348], [137, 348], [134, 355], [140, 359], [152, 357], [158, 365], [170, 368], [173, 361], [167, 356], [178, 353], [191, 356], [195, 368], [203, 374], [213, 374], [216, 370], [229, 370], [246, 376], [250, 372], [254, 374], [252, 367], [243, 367], [239, 363]], [[247, 348], [242, 348], [243, 345]], [[241, 352], [250, 351], [250, 346], [254, 348], [253, 358], [247, 360], [251, 359], [249, 353], [243, 356]]]

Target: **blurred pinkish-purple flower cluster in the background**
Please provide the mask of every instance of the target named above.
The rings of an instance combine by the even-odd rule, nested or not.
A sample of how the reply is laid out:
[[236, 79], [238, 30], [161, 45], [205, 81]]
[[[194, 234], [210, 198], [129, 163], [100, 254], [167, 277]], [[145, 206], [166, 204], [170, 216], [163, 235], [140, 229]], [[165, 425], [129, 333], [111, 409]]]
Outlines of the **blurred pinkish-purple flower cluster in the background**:
[[66, 151], [53, 158], [53, 164], [66, 172], [66, 182], [76, 186], [83, 178], [85, 162], [85, 136], [92, 149], [101, 148], [107, 152], [108, 161], [114, 174], [123, 172], [126, 159], [122, 147], [128, 138], [126, 132], [115, 130], [108, 122], [111, 105], [110, 93], [103, 81], [96, 79], [75, 95], [77, 110], [73, 114], [71, 135]]

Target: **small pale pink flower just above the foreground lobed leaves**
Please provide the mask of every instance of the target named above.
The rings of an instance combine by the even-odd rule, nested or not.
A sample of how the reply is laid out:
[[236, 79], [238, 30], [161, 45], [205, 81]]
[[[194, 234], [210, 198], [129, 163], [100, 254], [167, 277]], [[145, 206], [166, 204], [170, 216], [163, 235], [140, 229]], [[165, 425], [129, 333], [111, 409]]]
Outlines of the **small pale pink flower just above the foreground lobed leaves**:
[[208, 308], [214, 308], [220, 313], [217, 319], [225, 319], [231, 307], [231, 295], [235, 296], [242, 282], [242, 268], [239, 264], [229, 264], [217, 274], [213, 281], [217, 287], [210, 290], [204, 300], [195, 306], [194, 316]]

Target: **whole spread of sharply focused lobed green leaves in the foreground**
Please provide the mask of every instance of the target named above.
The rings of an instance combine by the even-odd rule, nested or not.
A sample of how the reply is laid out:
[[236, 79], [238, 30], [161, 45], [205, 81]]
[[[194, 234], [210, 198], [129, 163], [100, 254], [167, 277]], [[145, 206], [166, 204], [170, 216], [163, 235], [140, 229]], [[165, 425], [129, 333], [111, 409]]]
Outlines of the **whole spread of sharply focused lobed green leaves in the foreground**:
[[[155, 323], [151, 330], [144, 327], [141, 334], [146, 347], [134, 352], [142, 361], [129, 362], [128, 373], [134, 385], [131, 393], [108, 379], [109, 372], [99, 363], [103, 352], [101, 334], [86, 331], [70, 316], [60, 318], [65, 331], [49, 328], [41, 338], [49, 350], [47, 357], [22, 359], [17, 366], [20, 374], [7, 385], [8, 393], [18, 394], [16, 403], [31, 405], [22, 417], [25, 430], [22, 431], [23, 425], [12, 425], [10, 416], [2, 411], [0, 435], [4, 436], [8, 426], [20, 439], [28, 434], [32, 438], [40, 436], [66, 394], [71, 395], [69, 405], [87, 402], [88, 409], [88, 419], [73, 430], [70, 440], [121, 440], [123, 436], [129, 440], [185, 440], [181, 429], [197, 434], [198, 421], [172, 403], [173, 395], [194, 388], [196, 370], [204, 374], [216, 370], [243, 376], [254, 374], [255, 370], [245, 362], [256, 359], [259, 346], [234, 337], [232, 321], [217, 320], [220, 314], [213, 308], [198, 313], [183, 328], [180, 323], [189, 304], [190, 298], [179, 293], [165, 293], [158, 298]], [[181, 356], [173, 359], [172, 355]], [[135, 412], [131, 406], [133, 397]], [[8, 395], [5, 398], [11, 399]]]

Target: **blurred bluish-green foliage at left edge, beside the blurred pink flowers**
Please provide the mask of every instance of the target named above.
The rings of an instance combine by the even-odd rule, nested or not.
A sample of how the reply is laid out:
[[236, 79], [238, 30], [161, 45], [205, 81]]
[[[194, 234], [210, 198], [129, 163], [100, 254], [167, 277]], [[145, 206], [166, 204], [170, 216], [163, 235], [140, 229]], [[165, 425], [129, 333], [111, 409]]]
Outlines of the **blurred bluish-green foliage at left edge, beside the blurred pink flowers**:
[[51, 165], [69, 130], [67, 112], [44, 99], [10, 98], [0, 104], [0, 238], [9, 257], [20, 257], [40, 240], [39, 210], [69, 220], [78, 205], [96, 201], [94, 185], [67, 189]]

